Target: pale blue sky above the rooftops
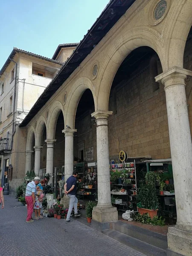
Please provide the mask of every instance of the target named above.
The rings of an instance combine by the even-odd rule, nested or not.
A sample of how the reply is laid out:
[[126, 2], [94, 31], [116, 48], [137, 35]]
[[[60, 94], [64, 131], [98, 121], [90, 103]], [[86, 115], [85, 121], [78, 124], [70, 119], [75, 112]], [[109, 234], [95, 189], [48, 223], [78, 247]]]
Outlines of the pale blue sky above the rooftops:
[[0, 11], [0, 69], [13, 47], [52, 58], [58, 44], [78, 43], [109, 0], [7, 0]]

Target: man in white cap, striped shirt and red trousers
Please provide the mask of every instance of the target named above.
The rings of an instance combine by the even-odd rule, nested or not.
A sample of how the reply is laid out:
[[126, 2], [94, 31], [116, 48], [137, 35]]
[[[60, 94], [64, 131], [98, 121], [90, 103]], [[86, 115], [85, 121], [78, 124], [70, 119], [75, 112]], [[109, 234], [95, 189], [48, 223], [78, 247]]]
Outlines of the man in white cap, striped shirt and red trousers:
[[32, 213], [33, 213], [33, 207], [35, 204], [36, 185], [39, 183], [39, 181], [40, 181], [40, 177], [35, 177], [34, 180], [29, 182], [26, 186], [25, 201], [27, 204], [27, 218], [26, 218], [27, 223], [34, 221], [32, 220]]

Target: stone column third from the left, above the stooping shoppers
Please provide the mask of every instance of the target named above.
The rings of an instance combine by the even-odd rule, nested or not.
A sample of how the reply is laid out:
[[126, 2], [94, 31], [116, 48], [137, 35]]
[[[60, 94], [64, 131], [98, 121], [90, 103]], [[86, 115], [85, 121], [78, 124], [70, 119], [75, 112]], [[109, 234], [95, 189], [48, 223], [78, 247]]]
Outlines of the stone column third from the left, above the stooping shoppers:
[[46, 173], [50, 174], [49, 184], [53, 186], [53, 160], [54, 160], [54, 143], [56, 140], [47, 139], [47, 162], [46, 162]]

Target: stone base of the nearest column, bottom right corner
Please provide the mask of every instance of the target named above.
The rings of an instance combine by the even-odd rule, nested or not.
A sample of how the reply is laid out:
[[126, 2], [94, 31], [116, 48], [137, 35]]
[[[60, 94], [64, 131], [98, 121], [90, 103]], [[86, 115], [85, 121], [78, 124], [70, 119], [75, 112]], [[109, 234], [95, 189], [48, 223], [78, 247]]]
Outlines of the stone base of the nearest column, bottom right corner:
[[169, 227], [167, 233], [168, 249], [167, 256], [191, 256], [192, 233]]

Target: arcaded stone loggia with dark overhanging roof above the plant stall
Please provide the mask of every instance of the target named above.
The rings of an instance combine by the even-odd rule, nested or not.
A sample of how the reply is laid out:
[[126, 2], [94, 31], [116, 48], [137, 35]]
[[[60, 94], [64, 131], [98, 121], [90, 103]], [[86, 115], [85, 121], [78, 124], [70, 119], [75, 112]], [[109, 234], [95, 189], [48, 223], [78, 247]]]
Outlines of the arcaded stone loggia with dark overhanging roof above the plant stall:
[[192, 252], [191, 14], [191, 0], [110, 1], [20, 124], [26, 171], [35, 151], [35, 173], [63, 163], [67, 178], [73, 157], [94, 147], [101, 226], [117, 220], [110, 156], [171, 157], [177, 225], [168, 255]]

